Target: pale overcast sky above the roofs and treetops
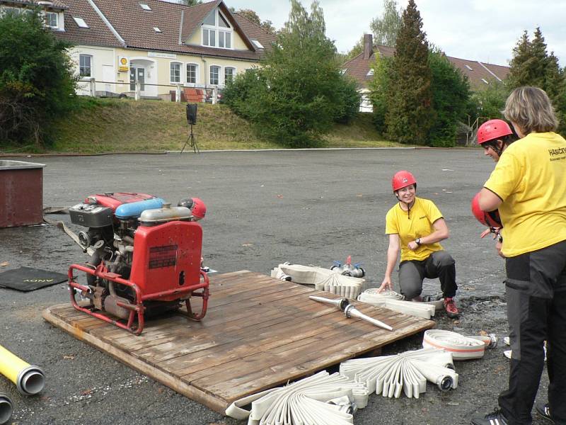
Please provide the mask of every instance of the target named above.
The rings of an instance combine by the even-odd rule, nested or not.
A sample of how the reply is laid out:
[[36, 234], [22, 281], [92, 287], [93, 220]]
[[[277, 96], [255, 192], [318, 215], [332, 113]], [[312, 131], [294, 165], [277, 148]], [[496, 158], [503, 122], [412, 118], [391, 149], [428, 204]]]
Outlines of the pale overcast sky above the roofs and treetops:
[[[262, 20], [280, 28], [289, 16], [287, 0], [224, 0], [226, 6], [251, 8]], [[310, 10], [311, 0], [301, 3]], [[383, 13], [383, 0], [319, 0], [326, 35], [339, 52], [347, 52], [369, 23]], [[405, 8], [408, 0], [398, 0]], [[566, 0], [416, 0], [429, 42], [446, 55], [506, 65], [512, 49], [528, 30], [540, 26], [548, 52], [566, 65]]]

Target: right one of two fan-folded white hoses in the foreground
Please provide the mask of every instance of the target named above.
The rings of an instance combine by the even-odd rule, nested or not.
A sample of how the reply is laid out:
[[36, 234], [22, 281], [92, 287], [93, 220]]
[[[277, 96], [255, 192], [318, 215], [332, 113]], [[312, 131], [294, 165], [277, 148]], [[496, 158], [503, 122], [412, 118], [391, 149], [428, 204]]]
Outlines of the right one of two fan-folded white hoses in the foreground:
[[450, 353], [422, 348], [393, 356], [355, 358], [340, 363], [340, 373], [366, 385], [369, 392], [383, 397], [419, 398], [427, 390], [427, 380], [448, 391], [458, 387], [458, 374]]

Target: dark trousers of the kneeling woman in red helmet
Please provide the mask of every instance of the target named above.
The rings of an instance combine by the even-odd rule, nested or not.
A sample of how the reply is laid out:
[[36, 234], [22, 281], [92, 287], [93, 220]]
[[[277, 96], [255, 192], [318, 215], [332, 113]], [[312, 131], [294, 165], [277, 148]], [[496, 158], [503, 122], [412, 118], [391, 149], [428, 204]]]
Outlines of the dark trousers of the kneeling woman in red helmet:
[[424, 278], [439, 278], [443, 297], [456, 295], [456, 266], [454, 259], [446, 251], [433, 252], [422, 261], [405, 260], [399, 264], [399, 286], [405, 299], [412, 300], [422, 293]]

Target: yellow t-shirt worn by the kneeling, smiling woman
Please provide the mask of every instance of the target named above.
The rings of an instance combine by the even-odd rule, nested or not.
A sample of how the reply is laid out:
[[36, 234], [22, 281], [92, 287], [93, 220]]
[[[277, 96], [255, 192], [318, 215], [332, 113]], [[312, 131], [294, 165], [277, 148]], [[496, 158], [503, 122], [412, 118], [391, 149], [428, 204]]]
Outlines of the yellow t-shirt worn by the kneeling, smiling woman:
[[437, 205], [432, 200], [415, 197], [410, 211], [405, 211], [397, 203], [385, 217], [385, 233], [398, 234], [401, 244], [401, 261], [424, 260], [435, 251], [441, 251], [441, 244], [421, 245], [415, 251], [408, 248], [408, 243], [434, 232], [432, 223], [443, 218]]

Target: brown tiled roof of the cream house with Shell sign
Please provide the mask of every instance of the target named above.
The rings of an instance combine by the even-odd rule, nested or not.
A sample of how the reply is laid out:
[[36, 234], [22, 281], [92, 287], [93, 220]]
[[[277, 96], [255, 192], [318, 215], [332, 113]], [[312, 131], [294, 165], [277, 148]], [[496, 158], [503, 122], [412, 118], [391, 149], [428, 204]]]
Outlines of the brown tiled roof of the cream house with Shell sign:
[[[65, 13], [65, 32], [57, 31], [56, 34], [74, 44], [259, 60], [263, 50], [255, 47], [250, 39], [258, 40], [265, 47], [269, 47], [275, 40], [275, 36], [245, 17], [232, 14], [222, 0], [191, 7], [161, 0], [92, 0], [111, 28], [124, 40], [122, 45], [120, 38], [112, 33], [110, 26], [106, 25], [87, 0], [65, 1], [69, 5], [69, 10]], [[141, 8], [140, 3], [147, 4], [151, 11]], [[184, 44], [200, 28], [200, 24], [214, 7], [221, 8], [236, 33], [248, 45], [248, 50]], [[84, 18], [90, 28], [79, 28], [72, 16]], [[156, 32], [154, 28], [159, 28], [161, 32]]]

